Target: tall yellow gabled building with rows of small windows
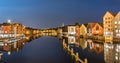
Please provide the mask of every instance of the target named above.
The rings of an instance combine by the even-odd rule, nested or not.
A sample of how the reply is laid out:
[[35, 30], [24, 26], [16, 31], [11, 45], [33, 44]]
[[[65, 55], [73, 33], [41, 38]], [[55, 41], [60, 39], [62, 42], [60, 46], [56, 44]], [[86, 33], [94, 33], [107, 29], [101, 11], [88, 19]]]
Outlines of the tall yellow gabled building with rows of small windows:
[[113, 39], [112, 22], [113, 22], [114, 17], [115, 17], [115, 14], [113, 14], [112, 12], [108, 12], [108, 11], [103, 16], [104, 36], [107, 42], [110, 42]]

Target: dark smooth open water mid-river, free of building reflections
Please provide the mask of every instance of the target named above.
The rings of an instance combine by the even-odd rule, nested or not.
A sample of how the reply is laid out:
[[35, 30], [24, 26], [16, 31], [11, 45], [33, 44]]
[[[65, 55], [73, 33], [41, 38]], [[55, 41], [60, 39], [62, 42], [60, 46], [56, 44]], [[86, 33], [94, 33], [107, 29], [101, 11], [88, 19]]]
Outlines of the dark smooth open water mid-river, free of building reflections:
[[72, 63], [70, 55], [63, 50], [61, 40], [41, 37], [26, 43], [19, 51], [2, 56], [2, 63]]

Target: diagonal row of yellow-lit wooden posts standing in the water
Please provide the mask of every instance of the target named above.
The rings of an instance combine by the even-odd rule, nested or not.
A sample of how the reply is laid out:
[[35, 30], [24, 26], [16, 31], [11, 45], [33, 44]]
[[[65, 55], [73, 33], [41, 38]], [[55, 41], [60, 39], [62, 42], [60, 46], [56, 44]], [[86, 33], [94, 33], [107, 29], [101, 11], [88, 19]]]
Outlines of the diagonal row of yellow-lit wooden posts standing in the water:
[[71, 54], [71, 56], [73, 56], [73, 57], [75, 58], [75, 61], [76, 61], [76, 62], [88, 63], [88, 61], [87, 61], [86, 58], [84, 59], [84, 61], [81, 60], [81, 59], [79, 58], [78, 52], [74, 53], [73, 48], [70, 49], [69, 45], [67, 45], [67, 44], [65, 43], [65, 40], [64, 40], [64, 39], [63, 39], [63, 48], [66, 49], [66, 50]]

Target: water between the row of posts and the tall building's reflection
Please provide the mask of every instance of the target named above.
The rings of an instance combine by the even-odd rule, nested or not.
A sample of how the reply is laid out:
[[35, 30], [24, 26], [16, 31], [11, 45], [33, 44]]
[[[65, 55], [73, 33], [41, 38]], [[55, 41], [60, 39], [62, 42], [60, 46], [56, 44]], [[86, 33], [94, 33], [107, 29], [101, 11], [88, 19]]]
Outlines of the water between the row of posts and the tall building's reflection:
[[104, 44], [76, 36], [63, 37], [63, 39], [65, 39], [70, 48], [74, 49], [74, 53], [78, 52], [79, 57], [83, 61], [87, 58], [88, 63], [105, 63], [103, 55]]

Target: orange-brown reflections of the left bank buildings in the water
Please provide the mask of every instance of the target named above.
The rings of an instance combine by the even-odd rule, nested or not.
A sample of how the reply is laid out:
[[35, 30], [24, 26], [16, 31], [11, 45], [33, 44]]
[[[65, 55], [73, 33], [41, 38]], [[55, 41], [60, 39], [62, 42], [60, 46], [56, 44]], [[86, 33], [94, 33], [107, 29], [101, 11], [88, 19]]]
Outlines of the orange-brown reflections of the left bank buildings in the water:
[[36, 34], [34, 36], [26, 36], [26, 37], [24, 37], [24, 38], [22, 38], [20, 40], [17, 40], [17, 39], [14, 39], [14, 40], [12, 39], [11, 40], [10, 39], [11, 40], [10, 41], [9, 39], [7, 39], [10, 42], [1, 42], [3, 45], [0, 45], [0, 61], [4, 62], [2, 60], [2, 56], [4, 54], [7, 53], [7, 55], [11, 55], [12, 52], [19, 51], [20, 49], [22, 49], [23, 46], [25, 45], [25, 43], [30, 42], [30, 41], [32, 41], [34, 39], [39, 38], [39, 37], [41, 37], [41, 35]]

